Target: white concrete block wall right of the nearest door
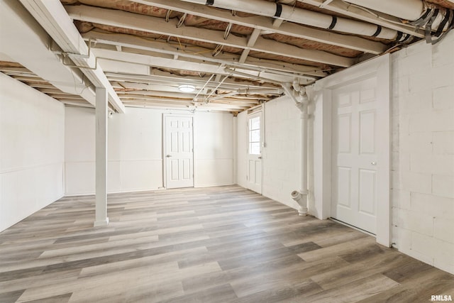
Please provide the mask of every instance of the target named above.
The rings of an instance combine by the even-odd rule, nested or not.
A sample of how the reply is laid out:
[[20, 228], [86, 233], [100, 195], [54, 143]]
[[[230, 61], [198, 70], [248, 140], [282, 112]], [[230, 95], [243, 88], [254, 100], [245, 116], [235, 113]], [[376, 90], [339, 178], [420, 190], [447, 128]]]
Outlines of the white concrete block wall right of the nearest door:
[[454, 32], [392, 54], [392, 242], [454, 273]]

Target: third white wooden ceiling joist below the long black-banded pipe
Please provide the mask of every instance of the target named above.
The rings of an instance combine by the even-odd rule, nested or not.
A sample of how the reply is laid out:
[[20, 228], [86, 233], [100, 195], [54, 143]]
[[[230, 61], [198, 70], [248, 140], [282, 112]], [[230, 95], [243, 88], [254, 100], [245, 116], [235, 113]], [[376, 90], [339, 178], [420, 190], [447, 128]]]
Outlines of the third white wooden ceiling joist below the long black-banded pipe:
[[[219, 54], [213, 57], [209, 49], [197, 48], [194, 53], [185, 52], [172, 45], [161, 43], [154, 40], [145, 40], [143, 38], [135, 37], [133, 35], [126, 35], [121, 33], [101, 33], [99, 31], [89, 31], [88, 33], [82, 34], [84, 39], [96, 40], [98, 43], [104, 43], [108, 45], [119, 45], [123, 48], [133, 48], [136, 52], [140, 53], [140, 50], [145, 52], [162, 53], [164, 55], [172, 55], [174, 60], [180, 60], [181, 58], [189, 58], [199, 62], [213, 62], [219, 65], [233, 66], [233, 67], [248, 67], [252, 70], [270, 70], [284, 72], [287, 75], [293, 77], [299, 77], [300, 75], [309, 75], [315, 77], [325, 77], [327, 74], [323, 72], [320, 67], [313, 67], [308, 65], [297, 65], [287, 62], [276, 62], [267, 59], [258, 59], [254, 57], [248, 57], [243, 63], [239, 64], [238, 60], [240, 56], [234, 54]], [[179, 46], [179, 45], [178, 45]], [[157, 56], [157, 54], [154, 54]], [[184, 60], [184, 59], [182, 59]]]

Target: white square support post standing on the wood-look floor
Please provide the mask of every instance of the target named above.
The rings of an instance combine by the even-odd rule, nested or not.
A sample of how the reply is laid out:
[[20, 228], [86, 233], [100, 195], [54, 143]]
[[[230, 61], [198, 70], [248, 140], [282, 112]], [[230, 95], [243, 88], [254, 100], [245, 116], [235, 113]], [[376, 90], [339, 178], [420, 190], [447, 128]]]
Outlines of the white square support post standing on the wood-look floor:
[[96, 206], [94, 226], [109, 224], [107, 217], [107, 89], [96, 87]]

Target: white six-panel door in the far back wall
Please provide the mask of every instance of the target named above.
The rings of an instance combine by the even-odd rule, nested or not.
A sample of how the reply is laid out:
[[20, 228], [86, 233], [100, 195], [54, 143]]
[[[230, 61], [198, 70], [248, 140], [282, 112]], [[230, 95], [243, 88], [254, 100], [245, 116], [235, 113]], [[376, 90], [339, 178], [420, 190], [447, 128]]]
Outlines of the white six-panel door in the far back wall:
[[163, 152], [165, 187], [194, 187], [192, 116], [165, 116]]

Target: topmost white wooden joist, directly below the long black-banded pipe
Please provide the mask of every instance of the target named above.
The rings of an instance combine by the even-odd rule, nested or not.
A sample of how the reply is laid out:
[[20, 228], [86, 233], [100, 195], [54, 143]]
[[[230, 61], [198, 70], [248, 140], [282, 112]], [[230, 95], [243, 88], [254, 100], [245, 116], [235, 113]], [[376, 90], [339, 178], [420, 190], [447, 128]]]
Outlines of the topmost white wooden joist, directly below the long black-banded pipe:
[[135, 2], [147, 4], [150, 6], [158, 6], [163, 9], [171, 9], [182, 13], [190, 13], [195, 16], [204, 18], [216, 19], [223, 22], [234, 23], [240, 26], [248, 26], [250, 28], [259, 28], [262, 31], [272, 33], [280, 33], [290, 35], [296, 38], [312, 40], [329, 45], [341, 46], [353, 50], [360, 50], [365, 53], [380, 54], [386, 50], [386, 45], [377, 43], [364, 38], [358, 38], [349, 35], [338, 33], [329, 33], [316, 28], [308, 28], [296, 23], [283, 23], [280, 26], [274, 26], [270, 22], [270, 18], [263, 16], [250, 16], [248, 18], [232, 16], [229, 11], [212, 9], [209, 6], [192, 4], [177, 0], [136, 0]]

